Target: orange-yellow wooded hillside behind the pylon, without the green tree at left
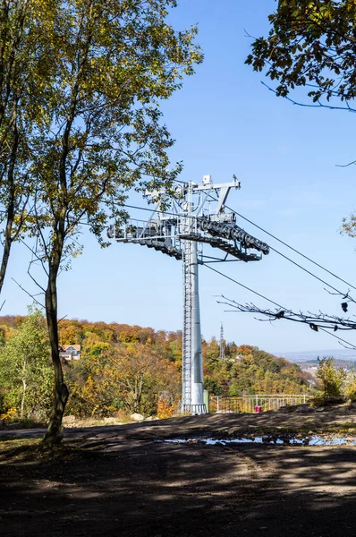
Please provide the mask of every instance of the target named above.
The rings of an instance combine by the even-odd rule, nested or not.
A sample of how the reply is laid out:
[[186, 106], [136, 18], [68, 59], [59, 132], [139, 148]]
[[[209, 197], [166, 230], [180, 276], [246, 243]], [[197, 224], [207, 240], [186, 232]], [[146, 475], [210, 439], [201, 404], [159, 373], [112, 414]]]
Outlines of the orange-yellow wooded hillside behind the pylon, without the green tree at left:
[[[26, 317], [2, 317], [4, 345], [26, 326]], [[81, 345], [81, 360], [64, 362], [70, 388], [66, 413], [81, 418], [123, 413], [172, 415], [181, 399], [182, 332], [127, 324], [61, 320], [62, 345]], [[1, 348], [1, 347], [0, 347]], [[205, 388], [211, 395], [306, 393], [300, 367], [250, 345], [226, 345], [220, 360], [216, 339], [202, 342]]]

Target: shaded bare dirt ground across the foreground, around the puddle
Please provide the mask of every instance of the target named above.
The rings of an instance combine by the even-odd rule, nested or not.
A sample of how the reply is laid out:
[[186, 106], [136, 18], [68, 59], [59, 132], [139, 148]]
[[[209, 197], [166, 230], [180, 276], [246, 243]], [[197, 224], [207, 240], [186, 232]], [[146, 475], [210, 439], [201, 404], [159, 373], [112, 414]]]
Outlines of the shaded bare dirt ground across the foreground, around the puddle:
[[157, 442], [312, 434], [352, 440], [352, 406], [72, 428], [51, 455], [38, 449], [43, 432], [0, 432], [1, 535], [356, 534], [354, 446]]

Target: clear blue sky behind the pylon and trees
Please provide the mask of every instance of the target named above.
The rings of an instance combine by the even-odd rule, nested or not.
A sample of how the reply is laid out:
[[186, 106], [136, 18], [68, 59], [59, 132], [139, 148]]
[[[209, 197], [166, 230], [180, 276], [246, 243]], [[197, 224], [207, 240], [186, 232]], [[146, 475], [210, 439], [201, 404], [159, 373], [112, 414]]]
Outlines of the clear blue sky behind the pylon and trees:
[[[347, 112], [292, 106], [275, 98], [263, 75], [244, 64], [253, 36], [267, 33], [274, 0], [181, 0], [172, 14], [177, 29], [199, 23], [205, 61], [182, 90], [164, 103], [165, 123], [176, 143], [172, 161], [182, 160], [182, 180], [230, 181], [242, 190], [228, 204], [250, 220], [303, 251], [356, 286], [356, 241], [339, 233], [355, 209], [355, 167], [336, 167], [356, 158], [356, 117]], [[302, 95], [298, 95], [302, 98]], [[306, 100], [306, 99], [304, 99]], [[137, 195], [131, 200], [141, 205]], [[140, 216], [136, 211], [135, 216]], [[251, 234], [280, 249], [330, 284], [333, 277], [292, 255], [252, 226]], [[157, 251], [129, 244], [101, 250], [83, 236], [85, 251], [60, 278], [59, 313], [68, 318], [117, 321], [152, 328], [182, 328], [182, 263]], [[4, 287], [3, 314], [23, 314], [30, 298], [11, 277], [33, 290], [26, 274], [28, 251], [15, 246]], [[297, 311], [341, 312], [340, 298], [299, 268], [271, 252], [258, 263], [225, 263], [219, 270]], [[216, 294], [268, 307], [207, 268], [200, 268], [201, 323], [204, 337], [225, 337], [270, 352], [335, 349], [333, 337], [287, 321], [259, 322], [249, 314], [225, 313]], [[356, 294], [356, 291], [355, 291]], [[356, 311], [352, 311], [355, 313]], [[343, 333], [356, 343], [356, 334]]]

